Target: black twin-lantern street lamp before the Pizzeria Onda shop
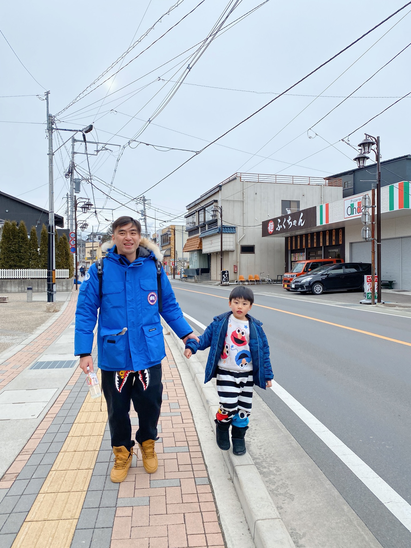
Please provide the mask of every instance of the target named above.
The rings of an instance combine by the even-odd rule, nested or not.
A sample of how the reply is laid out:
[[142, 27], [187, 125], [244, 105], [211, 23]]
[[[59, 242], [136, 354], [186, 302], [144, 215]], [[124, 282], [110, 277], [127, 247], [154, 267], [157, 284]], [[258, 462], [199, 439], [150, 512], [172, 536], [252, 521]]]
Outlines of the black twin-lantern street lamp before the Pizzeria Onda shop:
[[[372, 135], [365, 134], [366, 138], [359, 144], [361, 152], [354, 159], [357, 162], [359, 168], [364, 167], [366, 161], [369, 159], [366, 156], [369, 152], [373, 151], [375, 154], [377, 172], [376, 172], [376, 246], [377, 246], [377, 302], [381, 302], [381, 165], [380, 165], [380, 138], [373, 137]], [[372, 207], [375, 207], [375, 203], [372, 203]], [[372, 241], [374, 245], [374, 241]], [[374, 280], [374, 271], [372, 272], [372, 279]], [[372, 288], [373, 292], [373, 288]]]

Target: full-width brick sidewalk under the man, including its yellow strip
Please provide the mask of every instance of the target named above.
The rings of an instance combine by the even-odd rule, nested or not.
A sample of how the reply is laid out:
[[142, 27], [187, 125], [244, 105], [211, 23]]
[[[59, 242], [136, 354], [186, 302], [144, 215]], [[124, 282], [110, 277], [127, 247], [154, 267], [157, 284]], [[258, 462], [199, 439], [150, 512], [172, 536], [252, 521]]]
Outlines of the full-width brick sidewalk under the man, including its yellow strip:
[[[224, 547], [191, 412], [167, 346], [166, 351], [157, 472], [147, 474], [138, 454], [137, 466], [130, 468], [126, 481], [111, 483], [105, 405], [100, 412], [99, 400], [90, 402], [84, 377], [77, 370], [0, 482], [2, 547], [41, 548], [49, 541], [59, 548]], [[94, 412], [96, 403], [99, 409]], [[105, 425], [98, 447], [91, 447], [91, 438], [83, 432], [92, 427], [87, 424], [92, 407], [93, 416], [105, 415], [98, 419]], [[134, 410], [130, 417], [136, 430]], [[69, 460], [67, 452], [72, 455]], [[84, 468], [80, 463], [86, 453], [90, 453], [86, 460], [91, 466], [87, 482], [79, 484], [73, 476], [69, 485], [67, 479], [74, 471]], [[67, 479], [51, 489], [59, 473], [65, 473]], [[51, 496], [47, 495], [50, 490], [56, 502], [45, 511], [43, 499]], [[71, 499], [78, 501], [76, 508], [67, 506]]]

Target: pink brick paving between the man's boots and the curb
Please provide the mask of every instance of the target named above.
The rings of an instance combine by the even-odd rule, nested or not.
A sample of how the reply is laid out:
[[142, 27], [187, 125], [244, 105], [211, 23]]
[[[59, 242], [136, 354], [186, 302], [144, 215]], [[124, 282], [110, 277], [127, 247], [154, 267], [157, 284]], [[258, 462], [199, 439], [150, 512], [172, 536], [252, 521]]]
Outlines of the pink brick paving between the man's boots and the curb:
[[[158, 470], [145, 472], [139, 450], [137, 466], [119, 487], [121, 507], [116, 511], [111, 548], [223, 548], [189, 404], [168, 346], [166, 350]], [[134, 410], [130, 416], [135, 424]]]

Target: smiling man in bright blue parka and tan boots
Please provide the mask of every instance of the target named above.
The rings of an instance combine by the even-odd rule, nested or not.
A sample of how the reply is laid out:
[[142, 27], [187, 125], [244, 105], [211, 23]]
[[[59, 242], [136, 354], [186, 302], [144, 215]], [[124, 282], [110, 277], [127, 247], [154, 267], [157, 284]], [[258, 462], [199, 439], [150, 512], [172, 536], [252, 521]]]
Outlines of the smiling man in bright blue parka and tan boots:
[[[81, 284], [76, 310], [75, 355], [84, 373], [93, 372], [94, 328], [101, 384], [107, 402], [114, 466], [111, 481], [122, 482], [132, 463], [130, 402], [139, 416], [136, 441], [147, 472], [157, 470], [154, 449], [165, 357], [160, 313], [184, 341], [198, 338], [185, 321], [161, 267], [157, 246], [141, 238], [140, 222], [123, 216], [112, 225], [113, 246]], [[109, 244], [109, 246], [110, 246]], [[99, 311], [99, 314], [98, 314]]]

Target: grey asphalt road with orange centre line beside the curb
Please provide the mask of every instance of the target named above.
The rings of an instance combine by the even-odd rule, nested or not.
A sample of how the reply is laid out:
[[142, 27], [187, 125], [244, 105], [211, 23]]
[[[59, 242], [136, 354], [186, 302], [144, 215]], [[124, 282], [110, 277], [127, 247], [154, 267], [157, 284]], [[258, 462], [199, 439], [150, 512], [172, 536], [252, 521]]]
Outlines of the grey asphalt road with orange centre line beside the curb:
[[[197, 322], [208, 325], [228, 310], [227, 289], [177, 281], [173, 287], [181, 309]], [[392, 504], [391, 495], [378, 489], [372, 492], [356, 476], [356, 465], [344, 464], [284, 398], [256, 390], [381, 545], [409, 548], [411, 317], [259, 292], [264, 286], [255, 288], [251, 313], [264, 324], [276, 382], [382, 478], [400, 502]]]

